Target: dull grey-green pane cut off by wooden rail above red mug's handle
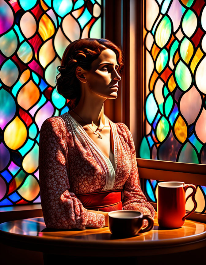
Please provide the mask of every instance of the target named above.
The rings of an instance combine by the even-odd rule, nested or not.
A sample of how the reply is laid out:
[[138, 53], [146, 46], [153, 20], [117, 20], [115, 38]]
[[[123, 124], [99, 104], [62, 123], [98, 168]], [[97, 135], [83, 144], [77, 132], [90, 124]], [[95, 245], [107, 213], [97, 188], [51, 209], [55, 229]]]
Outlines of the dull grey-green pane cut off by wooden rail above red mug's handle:
[[196, 164], [199, 163], [195, 149], [190, 143], [187, 142], [182, 148], [178, 162]]

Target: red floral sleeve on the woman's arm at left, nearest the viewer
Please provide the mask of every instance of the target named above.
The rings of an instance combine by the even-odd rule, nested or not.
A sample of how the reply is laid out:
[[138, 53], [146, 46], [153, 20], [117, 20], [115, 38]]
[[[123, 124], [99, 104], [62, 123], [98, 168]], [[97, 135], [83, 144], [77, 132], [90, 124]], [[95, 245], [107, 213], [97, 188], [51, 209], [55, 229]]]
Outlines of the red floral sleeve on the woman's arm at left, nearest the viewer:
[[87, 211], [76, 195], [69, 192], [66, 138], [61, 118], [52, 117], [44, 121], [40, 131], [39, 175], [45, 224], [56, 229], [103, 227], [104, 215]]

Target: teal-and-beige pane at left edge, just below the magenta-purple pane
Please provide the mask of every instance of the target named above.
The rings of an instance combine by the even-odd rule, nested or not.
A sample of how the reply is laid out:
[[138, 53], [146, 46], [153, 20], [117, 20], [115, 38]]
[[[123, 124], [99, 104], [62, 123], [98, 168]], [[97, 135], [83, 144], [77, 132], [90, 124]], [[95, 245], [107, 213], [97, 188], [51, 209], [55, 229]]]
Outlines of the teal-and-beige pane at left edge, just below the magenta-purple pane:
[[17, 36], [13, 29], [0, 38], [0, 50], [7, 57], [11, 56], [16, 51], [17, 44]]

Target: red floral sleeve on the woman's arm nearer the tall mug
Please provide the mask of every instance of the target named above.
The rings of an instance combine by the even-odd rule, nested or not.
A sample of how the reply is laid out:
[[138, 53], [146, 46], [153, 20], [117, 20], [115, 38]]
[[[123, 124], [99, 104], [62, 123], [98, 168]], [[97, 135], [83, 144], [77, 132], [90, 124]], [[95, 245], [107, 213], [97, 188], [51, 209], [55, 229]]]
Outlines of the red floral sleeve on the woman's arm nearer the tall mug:
[[143, 214], [149, 214], [151, 217], [154, 218], [154, 207], [149, 202], [147, 202], [147, 198], [143, 194], [140, 187], [136, 161], [136, 151], [132, 134], [125, 124], [120, 123], [120, 126], [123, 133], [123, 137], [130, 149], [132, 161], [132, 170], [127, 181], [125, 182], [123, 189], [123, 209], [140, 211]]

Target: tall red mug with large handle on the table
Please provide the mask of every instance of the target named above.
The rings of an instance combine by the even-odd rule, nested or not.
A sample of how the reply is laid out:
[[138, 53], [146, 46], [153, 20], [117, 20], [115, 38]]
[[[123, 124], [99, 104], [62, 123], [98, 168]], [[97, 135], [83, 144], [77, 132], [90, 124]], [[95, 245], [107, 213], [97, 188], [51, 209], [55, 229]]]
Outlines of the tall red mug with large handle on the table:
[[[185, 199], [185, 192], [192, 188], [193, 192]], [[167, 228], [179, 228], [184, 225], [188, 217], [197, 207], [195, 200], [196, 187], [179, 181], [166, 181], [158, 183], [157, 218], [158, 224]], [[186, 213], [185, 203], [192, 196], [194, 208]]]

